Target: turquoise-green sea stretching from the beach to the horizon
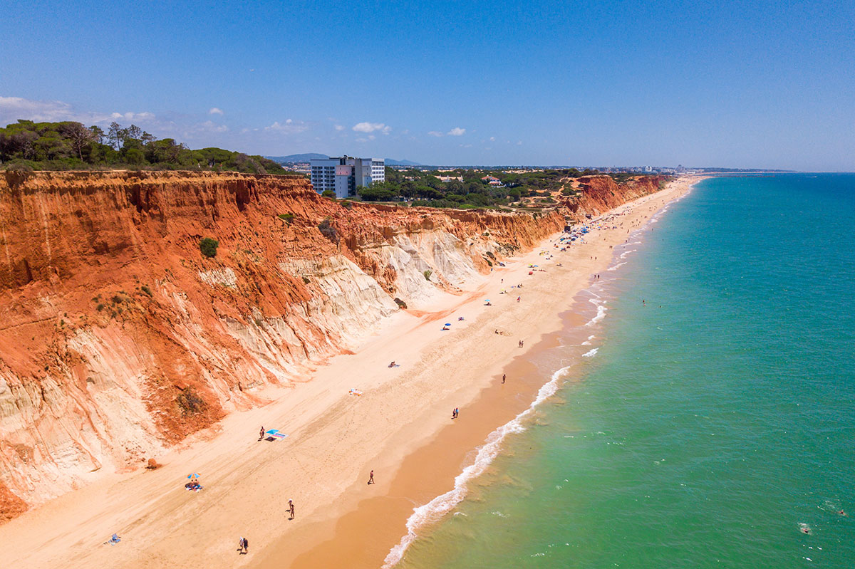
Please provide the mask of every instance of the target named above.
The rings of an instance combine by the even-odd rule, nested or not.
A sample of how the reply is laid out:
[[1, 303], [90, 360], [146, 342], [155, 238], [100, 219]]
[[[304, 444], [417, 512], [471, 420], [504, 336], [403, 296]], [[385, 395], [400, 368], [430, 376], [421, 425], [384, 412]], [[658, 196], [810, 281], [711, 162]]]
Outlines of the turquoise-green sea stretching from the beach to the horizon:
[[855, 566], [855, 175], [705, 180], [650, 227], [596, 355], [399, 567]]

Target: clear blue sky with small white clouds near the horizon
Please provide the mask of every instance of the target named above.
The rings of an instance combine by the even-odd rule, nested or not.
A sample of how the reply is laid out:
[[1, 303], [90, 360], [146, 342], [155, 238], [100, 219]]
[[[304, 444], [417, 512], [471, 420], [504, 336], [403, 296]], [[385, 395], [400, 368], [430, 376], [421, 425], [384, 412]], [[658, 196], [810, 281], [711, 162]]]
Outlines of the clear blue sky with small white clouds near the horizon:
[[855, 2], [17, 2], [0, 126], [447, 165], [855, 171]]

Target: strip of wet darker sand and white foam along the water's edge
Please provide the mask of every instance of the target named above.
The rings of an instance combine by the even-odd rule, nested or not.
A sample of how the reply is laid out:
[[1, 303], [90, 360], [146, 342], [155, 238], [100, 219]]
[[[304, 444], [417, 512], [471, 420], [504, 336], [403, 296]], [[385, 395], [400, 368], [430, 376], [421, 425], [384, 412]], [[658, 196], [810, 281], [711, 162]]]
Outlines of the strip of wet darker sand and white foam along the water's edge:
[[[703, 179], [705, 177], [684, 179], [686, 183], [675, 196], [659, 200], [657, 207], [643, 216], [644, 224], [630, 228], [629, 232], [634, 233], [646, 227], [654, 216], [662, 212], [663, 208], [685, 197], [691, 187]], [[661, 197], [659, 196], [661, 193], [657, 192], [657, 194], [640, 198], [636, 202], [647, 202], [648, 198]], [[616, 210], [627, 208], [633, 203], [623, 204]], [[615, 210], [610, 210], [600, 217], [609, 215], [613, 211]], [[553, 240], [554, 236], [547, 239], [548, 242]], [[618, 244], [623, 243], [611, 244], [617, 247]], [[560, 257], [556, 258], [560, 261]], [[620, 257], [621, 260], [623, 258]], [[604, 267], [604, 270], [614, 270], [625, 262], [617, 261], [618, 253], [614, 250], [609, 260], [601, 261], [600, 266]], [[502, 371], [510, 378], [515, 378], [514, 387], [510, 386], [510, 381], [509, 384], [500, 383], [501, 372], [493, 374], [495, 381], [485, 384], [465, 409], [465, 418], [471, 420], [467, 431], [460, 433], [461, 429], [457, 425], [445, 425], [427, 443], [415, 449], [401, 461], [391, 481], [376, 488], [380, 496], [363, 498], [352, 504], [351, 508], [347, 508], [347, 511], [336, 519], [318, 522], [311, 529], [306, 528], [305, 535], [301, 536], [303, 543], [309, 539], [314, 545], [299, 547], [300, 553], [293, 554], [293, 550], [297, 548], [298, 539], [296, 537], [289, 539], [287, 543], [280, 543], [271, 551], [266, 551], [267, 557], [253, 566], [262, 569], [272, 568], [282, 566], [284, 560], [288, 560], [287, 566], [295, 569], [333, 566], [382, 566], [386, 569], [396, 565], [405, 549], [416, 538], [409, 528], [413, 517], [425, 515], [427, 519], [419, 529], [428, 532], [431, 526], [439, 523], [440, 519], [462, 501], [466, 494], [465, 490], [460, 492], [458, 478], [463, 477], [471, 482], [489, 468], [492, 459], [500, 452], [504, 435], [509, 432], [519, 432], [516, 429], [517, 425], [511, 424], [521, 423], [540, 402], [554, 395], [566, 381], [573, 380], [576, 368], [584, 363], [585, 356], [589, 355], [590, 351], [596, 351], [596, 348], [591, 350], [591, 346], [586, 347], [582, 344], [589, 339], [587, 337], [589, 331], [585, 325], [596, 324], [602, 320], [604, 314], [600, 308], [595, 308], [596, 305], [590, 302], [590, 296], [584, 294], [595, 282], [588, 279], [585, 288], [574, 291], [570, 306], [555, 315], [555, 320], [559, 322], [557, 329], [540, 333], [538, 341], [531, 348], [522, 354], [515, 355], [504, 366]], [[587, 314], [589, 312], [591, 314]], [[571, 329], [571, 334], [577, 337], [577, 345], [581, 349], [576, 349], [578, 353], [573, 356], [572, 361], [553, 372], [550, 381], [544, 384], [544, 377], [535, 369], [533, 360], [545, 350], [556, 347], [559, 337], [567, 335], [568, 329]], [[462, 412], [461, 418], [463, 417]], [[502, 432], [499, 433], [499, 431]], [[499, 433], [498, 437], [496, 437], [497, 433]], [[498, 440], [493, 440], [494, 438]], [[491, 447], [489, 449], [491, 456], [486, 460], [486, 464], [476, 466], [476, 462], [486, 458], [481, 456], [481, 451], [486, 446]], [[477, 471], [474, 475], [466, 472], [472, 469]], [[431, 472], [431, 476], [426, 476], [425, 472]], [[449, 481], [454, 485], [451, 490], [448, 489]], [[466, 482], [464, 481], [463, 484]], [[359, 488], [360, 484], [357, 483], [351, 490], [357, 491]], [[454, 496], [458, 492], [460, 496]], [[443, 505], [439, 513], [430, 512], [432, 505], [438, 501], [442, 502], [443, 498], [450, 497], [449, 495], [454, 496], [457, 501], [451, 505]], [[421, 500], [416, 499], [416, 496]], [[421, 513], [417, 513], [417, 510], [421, 510]], [[392, 519], [394, 521], [390, 521]], [[404, 525], [404, 520], [407, 521], [407, 526]], [[313, 534], [315, 539], [310, 538]], [[404, 534], [403, 538], [402, 534]], [[325, 538], [320, 539], [319, 536]], [[394, 539], [393, 542], [389, 541], [390, 537]]]

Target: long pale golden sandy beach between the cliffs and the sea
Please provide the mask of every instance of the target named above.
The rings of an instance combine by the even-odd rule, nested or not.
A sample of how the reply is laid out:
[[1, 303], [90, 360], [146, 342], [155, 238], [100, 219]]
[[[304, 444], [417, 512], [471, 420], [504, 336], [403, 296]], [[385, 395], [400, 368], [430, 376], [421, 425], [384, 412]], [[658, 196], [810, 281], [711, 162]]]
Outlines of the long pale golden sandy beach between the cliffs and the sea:
[[[677, 179], [605, 214], [607, 224], [593, 220], [603, 228], [586, 243], [561, 252], [553, 236], [461, 296], [394, 315], [295, 388], [258, 390], [262, 404], [157, 457], [161, 468], [105, 474], [0, 526], [15, 544], [0, 566], [382, 566], [413, 508], [452, 490], [473, 451], [532, 402], [542, 381], [519, 356], [554, 342], [562, 318], [581, 318], [568, 311], [610, 248], [698, 181]], [[262, 425], [287, 437], [259, 440]], [[185, 489], [192, 472], [203, 490]], [[114, 532], [121, 543], [105, 544]]]

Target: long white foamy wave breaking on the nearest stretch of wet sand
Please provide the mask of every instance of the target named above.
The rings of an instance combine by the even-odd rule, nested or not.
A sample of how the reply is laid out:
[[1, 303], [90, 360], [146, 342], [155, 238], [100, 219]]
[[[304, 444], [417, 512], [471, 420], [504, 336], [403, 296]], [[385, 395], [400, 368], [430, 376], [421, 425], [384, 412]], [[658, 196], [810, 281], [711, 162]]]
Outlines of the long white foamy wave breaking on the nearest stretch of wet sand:
[[469, 483], [469, 480], [477, 478], [486, 471], [487, 466], [490, 466], [492, 460], [498, 455], [498, 452], [501, 449], [501, 444], [508, 435], [511, 433], [520, 433], [526, 430], [522, 425], [523, 419], [525, 419], [529, 414], [532, 414], [534, 408], [540, 405], [540, 403], [545, 402], [546, 399], [555, 395], [555, 392], [561, 386], [561, 379], [569, 371], [569, 368], [570, 366], [562, 367], [557, 370], [557, 372], [552, 373], [551, 379], [540, 387], [540, 390], [537, 392], [537, 396], [534, 397], [534, 401], [531, 402], [528, 409], [523, 411], [521, 414], [516, 415], [514, 419], [511, 419], [504, 425], [498, 427], [498, 429], [492, 431], [492, 433], [486, 437], [486, 441], [481, 448], [478, 449], [478, 453], [475, 455], [473, 463], [463, 468], [463, 472], [460, 472], [460, 474], [457, 474], [457, 477], [454, 478], [454, 488], [452, 490], [449, 490], [440, 496], [436, 496], [427, 504], [413, 508], [413, 513], [410, 515], [410, 518], [407, 519], [406, 535], [402, 537], [400, 543], [394, 546], [389, 551], [389, 554], [386, 555], [386, 559], [383, 560], [382, 569], [390, 569], [392, 566], [398, 564], [398, 561], [404, 557], [404, 551], [406, 551], [407, 548], [410, 547], [410, 543], [413, 543], [413, 540], [416, 539], [416, 531], [418, 529], [422, 528], [424, 525], [439, 521], [439, 519], [441, 519], [446, 513], [451, 511], [451, 508], [457, 506], [457, 504], [463, 501], [463, 498], [465, 498], [467, 494], [467, 484]]

